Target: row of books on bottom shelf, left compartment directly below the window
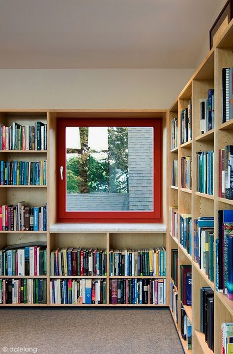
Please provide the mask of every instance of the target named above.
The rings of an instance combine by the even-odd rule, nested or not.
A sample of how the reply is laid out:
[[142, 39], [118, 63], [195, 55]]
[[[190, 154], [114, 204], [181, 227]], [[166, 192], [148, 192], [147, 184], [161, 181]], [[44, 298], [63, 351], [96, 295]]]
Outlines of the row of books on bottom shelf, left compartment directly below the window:
[[51, 304], [106, 304], [106, 279], [53, 279]]

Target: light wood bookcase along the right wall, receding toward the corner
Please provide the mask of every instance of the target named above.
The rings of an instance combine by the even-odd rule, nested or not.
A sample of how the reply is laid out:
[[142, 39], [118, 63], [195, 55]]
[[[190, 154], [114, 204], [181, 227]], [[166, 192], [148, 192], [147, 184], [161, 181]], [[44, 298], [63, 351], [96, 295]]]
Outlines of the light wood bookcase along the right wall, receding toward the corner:
[[[167, 159], [168, 159], [168, 200], [167, 215], [169, 207], [177, 206], [178, 215], [188, 213], [192, 220], [199, 216], [214, 216], [214, 238], [218, 235], [217, 220], [219, 209], [232, 209], [233, 201], [218, 197], [218, 150], [226, 145], [233, 144], [233, 120], [222, 124], [222, 68], [233, 66], [233, 21], [223, 33], [215, 48], [209, 52], [197, 71], [194, 73], [188, 84], [179, 94], [175, 103], [167, 115]], [[207, 98], [207, 90], [214, 89], [214, 128], [206, 133], [200, 133], [200, 99]], [[192, 98], [192, 141], [180, 144], [180, 137], [177, 148], [171, 150], [171, 120], [178, 118], [178, 133], [180, 135], [180, 110], [187, 107], [189, 99]], [[214, 150], [214, 193], [208, 195], [197, 192], [197, 151]], [[192, 156], [192, 190], [180, 187], [180, 161], [183, 156]], [[178, 187], [172, 186], [172, 161], [178, 159]], [[193, 225], [193, 223], [192, 223]], [[178, 220], [179, 230], [179, 220]], [[213, 353], [204, 340], [204, 334], [200, 332], [200, 289], [209, 286], [214, 291], [214, 353], [221, 351], [221, 324], [233, 322], [233, 301], [227, 295], [217, 292], [214, 282], [211, 282], [199, 265], [194, 262], [193, 252], [189, 255], [181, 246], [178, 233], [178, 240], [171, 234], [170, 220], [167, 220], [167, 233], [169, 238], [169, 252], [171, 249], [178, 250], [178, 285], [180, 286], [180, 265], [192, 266], [192, 306], [184, 306], [186, 315], [192, 323], [192, 351], [186, 349], [186, 342], [181, 338], [180, 319], [180, 293], [178, 293], [178, 323], [176, 325], [185, 353], [211, 354]], [[194, 245], [194, 232], [192, 227], [192, 251]], [[215, 252], [214, 252], [215, 253]], [[215, 266], [215, 258], [214, 258]], [[215, 273], [215, 272], [214, 272]], [[170, 282], [173, 282], [170, 274]], [[170, 294], [171, 299], [171, 294]], [[170, 301], [170, 300], [169, 300]], [[170, 302], [169, 302], [170, 303]], [[171, 309], [171, 307], [170, 307]], [[171, 310], [172, 316], [173, 312]], [[174, 319], [175, 322], [175, 319]]]

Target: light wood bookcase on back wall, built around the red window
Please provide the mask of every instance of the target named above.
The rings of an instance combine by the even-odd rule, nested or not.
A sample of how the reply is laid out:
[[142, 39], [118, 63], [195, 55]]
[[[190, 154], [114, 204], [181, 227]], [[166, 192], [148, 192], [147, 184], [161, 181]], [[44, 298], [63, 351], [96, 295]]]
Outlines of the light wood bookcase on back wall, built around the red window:
[[[28, 150], [1, 150], [0, 160], [11, 161], [39, 161], [47, 160], [47, 185], [46, 186], [0, 186], [0, 205], [16, 205], [20, 201], [26, 201], [30, 206], [45, 205], [47, 203], [48, 216], [46, 232], [24, 232], [24, 231], [2, 231], [0, 232], [0, 248], [30, 241], [45, 241], [47, 244], [47, 275], [46, 276], [11, 276], [11, 278], [46, 278], [47, 279], [47, 303], [46, 304], [0, 304], [0, 306], [117, 306], [109, 303], [109, 281], [113, 278], [151, 278], [166, 279], [159, 276], [110, 276], [109, 253], [110, 249], [142, 249], [149, 247], [163, 246], [167, 249], [166, 222], [163, 224], [58, 224], [57, 223], [57, 118], [100, 118], [100, 117], [122, 117], [125, 118], [162, 118], [163, 131], [166, 132], [166, 110], [24, 110], [0, 112], [0, 123], [10, 125], [18, 122], [22, 125], [33, 125], [35, 121], [47, 123], [47, 151]], [[166, 165], [166, 154], [163, 155], [163, 165]], [[166, 176], [164, 172], [164, 176]], [[164, 200], [166, 206], [166, 183], [163, 185]], [[164, 217], [165, 209], [163, 211]], [[50, 276], [50, 252], [62, 247], [91, 247], [107, 250], [107, 275], [106, 276]], [[167, 258], [167, 267], [169, 266]], [[167, 274], [169, 271], [167, 270]], [[10, 278], [10, 276], [0, 276]], [[51, 304], [50, 303], [50, 281], [52, 279], [79, 279], [79, 278], [104, 278], [107, 281], [107, 303], [106, 304]], [[168, 288], [166, 290], [166, 303], [160, 304], [119, 304], [120, 306], [141, 306], [156, 307], [168, 306]]]

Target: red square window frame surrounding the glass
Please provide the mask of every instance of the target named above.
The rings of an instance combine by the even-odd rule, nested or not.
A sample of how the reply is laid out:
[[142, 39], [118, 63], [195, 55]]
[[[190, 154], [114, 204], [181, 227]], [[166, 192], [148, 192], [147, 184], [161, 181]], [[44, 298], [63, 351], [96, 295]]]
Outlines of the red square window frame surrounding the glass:
[[[154, 129], [153, 210], [152, 211], [66, 211], [66, 127], [139, 126]], [[57, 220], [91, 223], [161, 223], [162, 222], [162, 118], [58, 118], [57, 121]], [[60, 178], [63, 166], [63, 180]]]

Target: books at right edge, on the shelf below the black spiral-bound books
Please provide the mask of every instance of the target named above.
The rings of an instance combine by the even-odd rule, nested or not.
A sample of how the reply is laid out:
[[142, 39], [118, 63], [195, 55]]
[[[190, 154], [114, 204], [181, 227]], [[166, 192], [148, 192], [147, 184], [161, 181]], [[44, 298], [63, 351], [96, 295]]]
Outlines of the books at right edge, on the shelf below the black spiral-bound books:
[[219, 197], [233, 200], [233, 145], [219, 150]]

